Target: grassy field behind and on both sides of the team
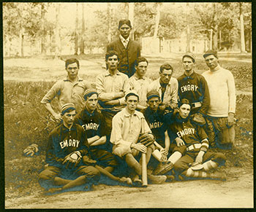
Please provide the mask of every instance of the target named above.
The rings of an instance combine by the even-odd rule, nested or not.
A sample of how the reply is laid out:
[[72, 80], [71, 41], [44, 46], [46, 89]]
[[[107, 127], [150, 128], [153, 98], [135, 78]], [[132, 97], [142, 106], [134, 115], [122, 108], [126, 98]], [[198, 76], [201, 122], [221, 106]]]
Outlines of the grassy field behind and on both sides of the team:
[[[99, 56], [101, 57], [101, 56]], [[95, 58], [87, 58], [96, 60]], [[163, 60], [149, 60], [148, 76], [151, 79], [158, 77], [159, 66]], [[174, 76], [182, 74], [181, 61], [178, 59], [171, 60], [174, 66]], [[82, 71], [80, 76], [89, 83], [94, 82], [97, 74], [102, 68], [95, 63], [90, 70]], [[228, 61], [222, 61], [222, 66], [233, 72], [236, 80], [237, 90], [252, 90], [252, 64]], [[81, 68], [88, 68], [82, 66]], [[15, 75], [22, 78], [33, 76], [34, 68], [6, 66], [4, 67], [4, 76]], [[80, 68], [80, 69], [81, 69]], [[100, 68], [100, 69], [99, 69]], [[197, 72], [205, 71], [206, 65], [203, 60], [197, 62]], [[43, 71], [42, 71], [43, 70]], [[42, 72], [44, 76], [51, 74], [50, 68], [38, 68], [36, 71]], [[55, 70], [55, 69], [54, 69]], [[17, 74], [16, 73], [16, 74]], [[58, 72], [60, 73], [60, 71]], [[65, 72], [61, 72], [64, 76]], [[42, 97], [48, 92], [53, 85], [53, 81], [58, 79], [57, 72], [51, 81], [31, 82], [25, 81], [4, 81], [4, 159], [5, 159], [5, 189], [6, 198], [31, 195], [41, 191], [37, 183], [38, 173], [45, 165], [45, 146], [48, 142], [48, 134], [53, 130], [54, 123], [40, 103]], [[62, 76], [61, 75], [61, 76]], [[41, 76], [41, 75], [39, 75]], [[38, 77], [37, 77], [38, 79]], [[223, 170], [229, 172], [230, 167], [252, 169], [253, 162], [253, 140], [252, 140], [252, 95], [237, 95], [236, 104], [236, 143], [232, 150], [223, 151], [227, 156], [227, 163]], [[56, 100], [53, 101], [53, 107], [56, 106]], [[37, 143], [40, 146], [40, 154], [34, 158], [23, 157], [23, 149], [29, 144]]]

